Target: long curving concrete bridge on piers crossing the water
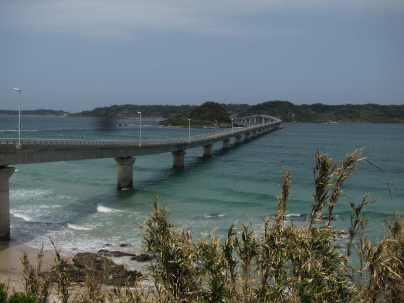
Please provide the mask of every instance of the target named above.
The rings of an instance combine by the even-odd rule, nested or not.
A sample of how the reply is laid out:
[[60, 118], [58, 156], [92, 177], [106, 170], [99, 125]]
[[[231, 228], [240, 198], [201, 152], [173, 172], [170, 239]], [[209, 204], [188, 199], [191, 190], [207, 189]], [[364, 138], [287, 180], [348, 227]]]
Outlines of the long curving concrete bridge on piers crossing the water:
[[[266, 115], [234, 118], [242, 127], [215, 131], [199, 136], [157, 140], [60, 140], [0, 138], [0, 240], [10, 239], [10, 178], [15, 171], [10, 165], [57, 161], [114, 158], [117, 164], [117, 189], [133, 187], [134, 156], [171, 152], [173, 167], [184, 167], [186, 149], [203, 147], [204, 156], [212, 156], [212, 147], [222, 142], [222, 148], [247, 141], [277, 129], [280, 119]], [[245, 123], [253, 123], [245, 126]], [[232, 123], [233, 126], [233, 123]]]

